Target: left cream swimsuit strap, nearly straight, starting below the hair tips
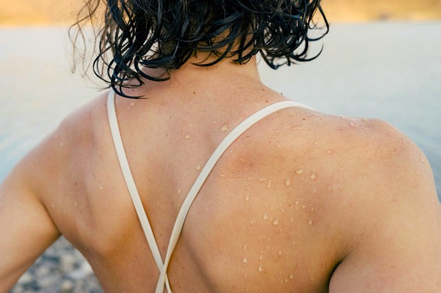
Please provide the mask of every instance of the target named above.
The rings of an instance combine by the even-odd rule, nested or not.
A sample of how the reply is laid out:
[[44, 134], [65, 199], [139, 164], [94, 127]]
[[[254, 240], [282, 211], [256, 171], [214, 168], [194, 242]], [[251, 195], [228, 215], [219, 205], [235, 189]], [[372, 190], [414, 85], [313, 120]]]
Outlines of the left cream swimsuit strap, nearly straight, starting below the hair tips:
[[[149, 219], [147, 218], [147, 214], [145, 213], [143, 203], [141, 202], [141, 198], [139, 197], [138, 189], [136, 188], [136, 184], [133, 180], [129, 162], [127, 161], [127, 156], [125, 154], [123, 140], [121, 139], [118, 120], [116, 118], [115, 92], [112, 90], [109, 91], [109, 94], [107, 96], [107, 115], [109, 117], [110, 130], [112, 131], [112, 138], [115, 145], [116, 155], [118, 155], [119, 164], [121, 165], [121, 171], [123, 171], [125, 184], [127, 185], [130, 197], [132, 197], [132, 202], [135, 206], [136, 214], [138, 214], [139, 221], [141, 221], [141, 226], [143, 227], [145, 238], [147, 238], [147, 243], [150, 246], [150, 250], [152, 250], [156, 266], [158, 267], [159, 272], [162, 272], [164, 264], [161, 257], [161, 252], [159, 252], [158, 244], [154, 239], [152, 226], [150, 226]], [[168, 282], [168, 278], [166, 275], [165, 281], [163, 282], [165, 282], [167, 291], [171, 293], [172, 290], [170, 289], [170, 283]]]

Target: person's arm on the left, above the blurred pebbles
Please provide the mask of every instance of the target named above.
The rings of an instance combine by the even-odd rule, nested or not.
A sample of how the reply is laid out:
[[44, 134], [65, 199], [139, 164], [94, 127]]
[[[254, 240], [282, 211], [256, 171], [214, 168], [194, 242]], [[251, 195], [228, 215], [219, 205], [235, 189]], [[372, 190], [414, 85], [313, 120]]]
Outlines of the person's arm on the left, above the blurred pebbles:
[[59, 237], [31, 180], [32, 173], [41, 172], [36, 157], [35, 151], [27, 155], [0, 185], [0, 292], [7, 292]]

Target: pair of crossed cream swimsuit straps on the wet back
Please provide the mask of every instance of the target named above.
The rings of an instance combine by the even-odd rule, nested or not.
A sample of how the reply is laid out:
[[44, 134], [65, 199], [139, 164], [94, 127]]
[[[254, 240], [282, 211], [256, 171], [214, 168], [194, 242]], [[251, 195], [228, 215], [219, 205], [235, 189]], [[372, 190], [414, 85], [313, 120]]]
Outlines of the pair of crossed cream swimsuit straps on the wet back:
[[150, 250], [152, 250], [152, 254], [156, 261], [156, 266], [158, 270], [161, 272], [161, 275], [158, 279], [158, 284], [156, 285], [156, 293], [163, 293], [164, 286], [167, 288], [167, 292], [171, 293], [172, 290], [170, 288], [170, 283], [167, 279], [167, 268], [170, 263], [170, 258], [172, 257], [172, 253], [178, 241], [179, 235], [181, 235], [181, 231], [183, 229], [185, 217], [187, 217], [188, 211], [192, 206], [196, 195], [201, 190], [205, 180], [209, 173], [214, 168], [216, 162], [218, 162], [220, 156], [227, 150], [227, 148], [236, 140], [242, 133], [244, 133], [249, 127], [252, 127], [256, 122], [262, 120], [263, 118], [269, 116], [271, 113], [279, 111], [281, 109], [289, 108], [289, 107], [302, 107], [308, 108], [305, 105], [302, 105], [298, 102], [294, 101], [283, 101], [276, 102], [271, 104], [263, 109], [260, 109], [252, 116], [249, 116], [243, 122], [241, 122], [236, 128], [234, 128], [228, 135], [223, 139], [222, 142], [218, 145], [212, 156], [205, 164], [198, 178], [194, 182], [192, 188], [190, 189], [187, 197], [185, 198], [183, 205], [181, 206], [181, 210], [179, 210], [178, 217], [176, 217], [176, 222], [174, 224], [174, 228], [172, 230], [172, 235], [170, 237], [169, 245], [167, 248], [167, 254], [165, 256], [165, 261], [163, 263], [161, 253], [159, 252], [158, 245], [156, 244], [156, 240], [153, 235], [152, 227], [150, 226], [150, 222], [148, 221], [147, 215], [145, 214], [145, 210], [143, 208], [143, 204], [141, 202], [141, 198], [139, 197], [139, 193], [136, 189], [136, 185], [133, 180], [132, 173], [130, 171], [130, 166], [127, 162], [127, 157], [125, 155], [123, 142], [121, 140], [121, 133], [119, 132], [118, 120], [116, 119], [116, 110], [114, 104], [114, 91], [110, 91], [109, 96], [107, 97], [107, 111], [109, 116], [110, 128], [112, 130], [112, 137], [115, 144], [116, 153], [118, 155], [119, 162], [121, 164], [121, 170], [123, 171], [125, 183], [127, 184], [127, 189], [132, 197], [132, 201], [134, 203], [136, 213], [138, 214], [139, 220], [141, 221], [141, 226], [143, 227], [145, 237], [147, 238], [147, 242], [149, 243]]

